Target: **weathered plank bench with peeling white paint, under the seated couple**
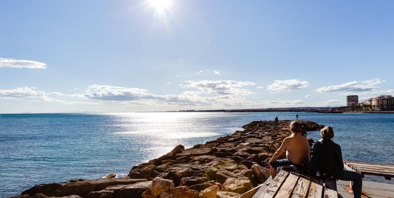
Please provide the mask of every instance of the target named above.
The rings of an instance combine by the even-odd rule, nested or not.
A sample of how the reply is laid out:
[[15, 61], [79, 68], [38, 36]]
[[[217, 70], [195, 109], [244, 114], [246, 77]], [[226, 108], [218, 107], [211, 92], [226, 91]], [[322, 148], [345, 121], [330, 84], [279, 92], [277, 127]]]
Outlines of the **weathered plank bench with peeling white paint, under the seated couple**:
[[338, 198], [336, 181], [281, 170], [259, 198]]

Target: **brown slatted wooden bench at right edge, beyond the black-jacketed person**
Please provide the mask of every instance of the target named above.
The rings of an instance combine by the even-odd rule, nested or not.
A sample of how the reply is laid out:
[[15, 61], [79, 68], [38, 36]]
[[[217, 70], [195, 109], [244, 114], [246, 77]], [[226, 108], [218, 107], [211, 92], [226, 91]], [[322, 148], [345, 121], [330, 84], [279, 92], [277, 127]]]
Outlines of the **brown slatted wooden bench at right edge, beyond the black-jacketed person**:
[[[387, 180], [391, 180], [391, 178], [394, 178], [394, 165], [355, 161], [344, 161], [344, 165], [348, 170], [354, 170], [359, 172], [362, 178], [364, 178], [364, 175], [383, 176]], [[349, 186], [344, 186], [344, 188], [348, 192], [353, 193], [352, 181], [349, 181]]]

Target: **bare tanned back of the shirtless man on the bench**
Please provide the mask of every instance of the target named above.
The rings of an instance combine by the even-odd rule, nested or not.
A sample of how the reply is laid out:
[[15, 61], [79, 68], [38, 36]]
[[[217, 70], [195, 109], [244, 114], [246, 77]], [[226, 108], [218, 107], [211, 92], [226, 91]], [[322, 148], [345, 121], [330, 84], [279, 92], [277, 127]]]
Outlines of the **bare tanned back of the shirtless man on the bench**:
[[286, 139], [286, 158], [295, 164], [308, 164], [310, 161], [308, 139], [300, 133]]

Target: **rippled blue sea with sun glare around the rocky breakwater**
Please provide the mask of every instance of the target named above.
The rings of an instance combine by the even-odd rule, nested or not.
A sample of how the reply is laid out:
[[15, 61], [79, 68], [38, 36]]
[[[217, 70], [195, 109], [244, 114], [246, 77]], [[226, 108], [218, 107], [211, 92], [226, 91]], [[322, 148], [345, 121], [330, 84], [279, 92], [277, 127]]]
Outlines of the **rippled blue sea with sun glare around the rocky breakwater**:
[[[132, 166], [296, 113], [0, 114], [0, 197], [39, 183], [126, 175]], [[330, 125], [345, 160], [394, 164], [394, 114], [298, 113]], [[319, 139], [319, 131], [310, 137]], [[364, 180], [390, 182], [379, 177]]]

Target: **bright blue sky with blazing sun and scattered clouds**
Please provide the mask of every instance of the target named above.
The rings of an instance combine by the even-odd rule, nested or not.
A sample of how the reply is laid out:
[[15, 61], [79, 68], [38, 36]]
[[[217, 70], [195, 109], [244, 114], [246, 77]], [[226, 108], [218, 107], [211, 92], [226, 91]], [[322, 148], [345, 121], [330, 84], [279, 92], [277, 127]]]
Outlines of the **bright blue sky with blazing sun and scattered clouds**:
[[394, 94], [391, 0], [164, 1], [2, 1], [0, 113], [335, 106], [347, 94]]

